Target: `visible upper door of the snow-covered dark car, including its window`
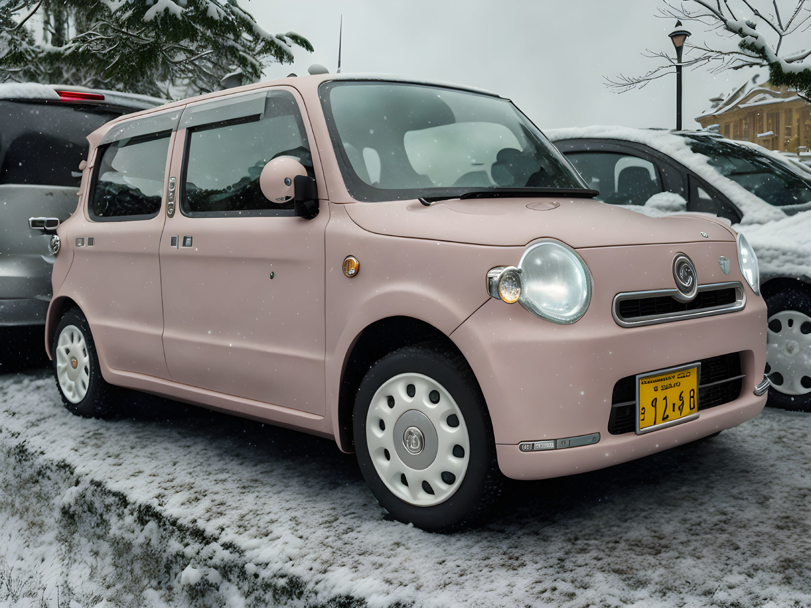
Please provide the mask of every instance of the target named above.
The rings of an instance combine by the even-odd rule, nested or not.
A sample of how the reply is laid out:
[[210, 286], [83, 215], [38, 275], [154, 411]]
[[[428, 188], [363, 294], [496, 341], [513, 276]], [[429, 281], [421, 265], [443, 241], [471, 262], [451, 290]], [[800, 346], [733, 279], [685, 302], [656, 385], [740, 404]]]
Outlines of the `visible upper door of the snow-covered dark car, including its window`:
[[644, 205], [661, 192], [687, 199], [679, 170], [646, 146], [611, 139], [569, 139], [555, 145], [604, 203]]

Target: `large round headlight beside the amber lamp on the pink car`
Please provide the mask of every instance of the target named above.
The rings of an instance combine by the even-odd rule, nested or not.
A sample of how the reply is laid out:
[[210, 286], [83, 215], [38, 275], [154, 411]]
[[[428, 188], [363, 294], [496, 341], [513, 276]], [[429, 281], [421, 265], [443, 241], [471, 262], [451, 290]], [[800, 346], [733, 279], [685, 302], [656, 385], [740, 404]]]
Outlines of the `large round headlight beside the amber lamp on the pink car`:
[[533, 315], [553, 323], [574, 323], [591, 301], [591, 273], [577, 252], [553, 239], [531, 244], [521, 262], [518, 302]]

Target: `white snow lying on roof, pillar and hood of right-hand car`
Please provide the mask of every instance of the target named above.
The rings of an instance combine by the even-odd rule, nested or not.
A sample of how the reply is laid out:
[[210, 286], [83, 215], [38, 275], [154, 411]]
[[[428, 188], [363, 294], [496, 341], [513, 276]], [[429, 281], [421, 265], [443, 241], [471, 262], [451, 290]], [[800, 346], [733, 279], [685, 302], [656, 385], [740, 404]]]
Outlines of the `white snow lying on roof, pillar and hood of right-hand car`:
[[[721, 139], [720, 135], [706, 131], [665, 131], [655, 129], [633, 129], [626, 126], [586, 126], [582, 128], [550, 129], [543, 131], [552, 141], [564, 139], [619, 139], [642, 143], [667, 156], [706, 179], [723, 195], [726, 195], [740, 208], [744, 216], [740, 224], [732, 228], [742, 232], [752, 244], [760, 264], [763, 280], [773, 276], [795, 276], [811, 280], [811, 211], [787, 216], [780, 208], [753, 195], [743, 186], [723, 177], [708, 162], [706, 156], [693, 152], [687, 145], [685, 135]], [[770, 152], [756, 143], [729, 143], [759, 148], [767, 156], [782, 161], [784, 165], [800, 173], [790, 162], [778, 153]], [[636, 211], [636, 210], [635, 210]]]

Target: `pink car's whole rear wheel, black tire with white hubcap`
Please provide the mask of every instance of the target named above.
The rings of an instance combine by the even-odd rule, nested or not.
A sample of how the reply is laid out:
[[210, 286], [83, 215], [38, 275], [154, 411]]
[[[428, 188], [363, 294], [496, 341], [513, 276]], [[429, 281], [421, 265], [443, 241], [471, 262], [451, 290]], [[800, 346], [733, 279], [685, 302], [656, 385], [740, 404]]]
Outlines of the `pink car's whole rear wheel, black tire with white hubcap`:
[[56, 386], [65, 407], [77, 416], [108, 417], [119, 389], [101, 377], [88, 320], [71, 308], [59, 321], [51, 347]]

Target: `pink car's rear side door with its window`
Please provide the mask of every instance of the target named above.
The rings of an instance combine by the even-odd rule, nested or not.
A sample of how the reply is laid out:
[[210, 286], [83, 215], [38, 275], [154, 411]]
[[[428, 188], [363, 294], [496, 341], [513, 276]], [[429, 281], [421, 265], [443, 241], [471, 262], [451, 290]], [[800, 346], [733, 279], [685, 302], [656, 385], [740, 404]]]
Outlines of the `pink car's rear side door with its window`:
[[68, 233], [75, 256], [68, 280], [105, 365], [161, 378], [169, 371], [158, 243], [181, 112], [120, 122], [107, 132], [89, 165], [83, 221], [71, 222]]

